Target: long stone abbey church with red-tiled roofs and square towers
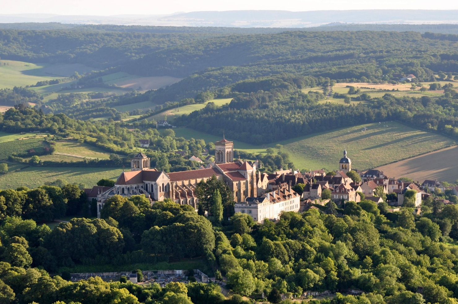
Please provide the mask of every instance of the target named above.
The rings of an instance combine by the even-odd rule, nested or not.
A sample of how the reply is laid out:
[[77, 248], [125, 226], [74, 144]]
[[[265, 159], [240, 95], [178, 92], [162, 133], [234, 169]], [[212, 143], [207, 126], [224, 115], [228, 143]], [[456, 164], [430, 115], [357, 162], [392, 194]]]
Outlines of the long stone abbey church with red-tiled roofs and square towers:
[[131, 171], [123, 171], [113, 188], [98, 194], [97, 215], [100, 217], [105, 200], [115, 194], [128, 197], [145, 194], [152, 201], [169, 198], [180, 205], [187, 204], [197, 209], [194, 188], [198, 182], [206, 181], [213, 175], [229, 186], [236, 202], [259, 195], [257, 180], [261, 178], [256, 178], [256, 166], [246, 161], [234, 162], [234, 143], [223, 138], [215, 143], [215, 164], [207, 169], [165, 173], [150, 169], [150, 159], [138, 153], [131, 160]]

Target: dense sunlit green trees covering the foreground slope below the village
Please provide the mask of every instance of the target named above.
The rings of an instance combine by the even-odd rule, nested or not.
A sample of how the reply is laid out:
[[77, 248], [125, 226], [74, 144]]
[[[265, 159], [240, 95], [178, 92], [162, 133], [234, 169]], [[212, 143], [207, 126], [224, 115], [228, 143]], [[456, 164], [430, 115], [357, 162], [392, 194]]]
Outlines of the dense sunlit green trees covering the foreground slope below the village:
[[[203, 187], [211, 191], [216, 185]], [[171, 201], [151, 207], [144, 196], [114, 196], [102, 219], [74, 218], [54, 230], [36, 224], [40, 216], [66, 208], [83, 212], [77, 208], [84, 201], [78, 193], [75, 185], [0, 192], [2, 303], [115, 303], [115, 298], [118, 303], [229, 304], [250, 303], [236, 295], [261, 298], [262, 293], [270, 303], [279, 303], [282, 294], [288, 298], [326, 290], [337, 294], [311, 303], [457, 302], [458, 249], [451, 242], [458, 239], [458, 207], [434, 198], [423, 202], [422, 216], [407, 207], [392, 213], [386, 203], [362, 200], [343, 209], [330, 202], [321, 211], [285, 212], [277, 223], [257, 224], [241, 213], [221, 221]], [[199, 256], [210, 276], [227, 278], [232, 298], [225, 299], [214, 284], [137, 288], [97, 278], [66, 281], [68, 270], [77, 265]], [[360, 295], [341, 294], [352, 290]]]

